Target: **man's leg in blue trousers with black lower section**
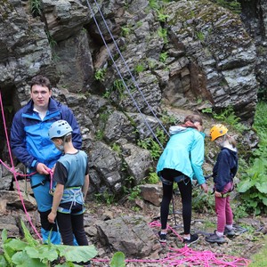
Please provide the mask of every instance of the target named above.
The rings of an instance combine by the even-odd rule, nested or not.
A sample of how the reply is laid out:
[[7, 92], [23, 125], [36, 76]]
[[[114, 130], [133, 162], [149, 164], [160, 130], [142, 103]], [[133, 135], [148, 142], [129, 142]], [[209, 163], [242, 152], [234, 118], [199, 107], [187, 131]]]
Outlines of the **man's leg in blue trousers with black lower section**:
[[[33, 193], [36, 198], [37, 209], [40, 214], [41, 234], [43, 242], [47, 243], [48, 239], [55, 245], [61, 244], [61, 235], [56, 223], [49, 223], [47, 216], [50, 214], [53, 204], [53, 196], [49, 194], [50, 182], [45, 181], [45, 175], [34, 174], [30, 176], [31, 186], [34, 187]], [[40, 184], [43, 182], [43, 184]], [[39, 184], [39, 185], [38, 185]], [[36, 186], [38, 185], [38, 186]], [[36, 186], [36, 187], [35, 187]]]

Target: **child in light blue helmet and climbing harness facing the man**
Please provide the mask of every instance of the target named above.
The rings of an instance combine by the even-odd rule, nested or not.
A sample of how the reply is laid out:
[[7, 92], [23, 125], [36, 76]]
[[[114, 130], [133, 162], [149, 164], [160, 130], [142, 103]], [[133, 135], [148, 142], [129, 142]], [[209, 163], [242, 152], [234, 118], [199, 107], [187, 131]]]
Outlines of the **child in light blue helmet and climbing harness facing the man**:
[[53, 171], [56, 188], [48, 221], [57, 223], [64, 245], [74, 246], [73, 235], [79, 246], [87, 246], [84, 228], [85, 197], [89, 187], [89, 172], [85, 151], [77, 150], [71, 141], [72, 128], [65, 120], [51, 125], [48, 135], [58, 150], [63, 152]]

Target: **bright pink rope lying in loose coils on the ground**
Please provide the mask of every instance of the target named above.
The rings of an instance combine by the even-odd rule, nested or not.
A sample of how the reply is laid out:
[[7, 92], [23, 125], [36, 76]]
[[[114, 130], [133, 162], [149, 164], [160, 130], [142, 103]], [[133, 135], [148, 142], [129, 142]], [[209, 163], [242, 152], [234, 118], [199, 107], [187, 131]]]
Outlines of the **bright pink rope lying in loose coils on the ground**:
[[[150, 227], [160, 228], [160, 223], [154, 221], [150, 223]], [[174, 234], [182, 240], [182, 237], [174, 231], [169, 225], [167, 229], [174, 232]], [[92, 259], [94, 263], [109, 263], [109, 259]], [[220, 267], [238, 267], [248, 266], [251, 262], [245, 258], [239, 258], [232, 255], [215, 254], [212, 251], [194, 251], [185, 245], [182, 248], [169, 247], [169, 252], [166, 257], [158, 260], [141, 260], [141, 259], [126, 259], [126, 263], [158, 263], [158, 266], [171, 267], [171, 266], [220, 266]]]

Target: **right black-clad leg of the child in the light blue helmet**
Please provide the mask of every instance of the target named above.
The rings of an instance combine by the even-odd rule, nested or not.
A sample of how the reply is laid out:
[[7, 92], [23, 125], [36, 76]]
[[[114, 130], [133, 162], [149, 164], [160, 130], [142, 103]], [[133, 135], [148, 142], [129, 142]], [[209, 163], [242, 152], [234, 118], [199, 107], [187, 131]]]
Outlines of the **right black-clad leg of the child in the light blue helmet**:
[[75, 238], [79, 246], [88, 246], [88, 240], [85, 234], [84, 214], [71, 214], [71, 224]]

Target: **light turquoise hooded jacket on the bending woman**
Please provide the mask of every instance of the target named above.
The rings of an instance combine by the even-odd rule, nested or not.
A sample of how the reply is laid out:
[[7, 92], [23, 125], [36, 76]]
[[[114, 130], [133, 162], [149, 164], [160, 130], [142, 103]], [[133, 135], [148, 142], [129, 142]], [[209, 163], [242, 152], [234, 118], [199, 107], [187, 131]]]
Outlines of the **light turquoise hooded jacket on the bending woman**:
[[158, 159], [157, 173], [164, 168], [174, 169], [198, 184], [205, 181], [202, 165], [204, 162], [204, 137], [197, 129], [183, 126], [170, 127], [171, 137]]

